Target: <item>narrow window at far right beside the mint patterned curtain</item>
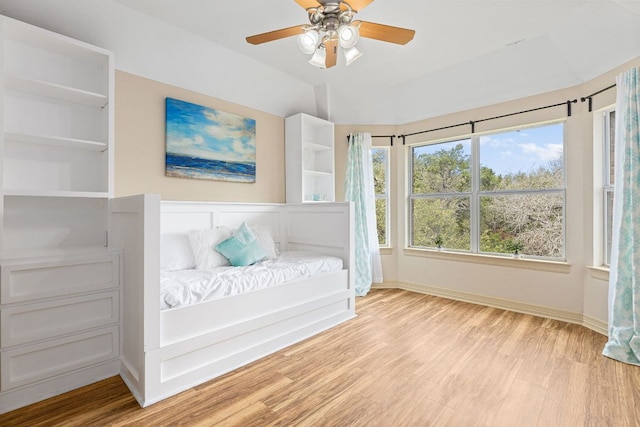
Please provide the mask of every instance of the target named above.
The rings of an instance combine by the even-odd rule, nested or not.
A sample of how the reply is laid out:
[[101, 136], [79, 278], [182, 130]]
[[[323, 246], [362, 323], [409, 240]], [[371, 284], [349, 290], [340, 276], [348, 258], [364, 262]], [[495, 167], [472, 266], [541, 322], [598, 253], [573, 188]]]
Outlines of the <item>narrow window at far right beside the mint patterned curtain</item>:
[[604, 200], [604, 265], [611, 262], [611, 239], [613, 230], [613, 186], [615, 184], [615, 133], [616, 112], [608, 110], [603, 113], [603, 140], [604, 140], [604, 176], [603, 176], [603, 200]]

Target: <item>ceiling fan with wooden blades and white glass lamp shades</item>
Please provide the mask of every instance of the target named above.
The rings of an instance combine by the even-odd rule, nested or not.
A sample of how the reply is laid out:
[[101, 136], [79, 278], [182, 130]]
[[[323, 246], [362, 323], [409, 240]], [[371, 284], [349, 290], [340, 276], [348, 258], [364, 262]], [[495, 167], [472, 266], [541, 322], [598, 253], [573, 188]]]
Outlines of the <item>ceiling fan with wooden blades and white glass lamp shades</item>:
[[307, 11], [309, 24], [256, 34], [247, 37], [247, 42], [257, 45], [297, 35], [300, 50], [309, 55], [313, 54], [309, 63], [319, 68], [330, 68], [337, 63], [338, 45], [343, 49], [346, 63], [349, 65], [362, 55], [356, 49], [360, 37], [407, 44], [415, 34], [414, 30], [406, 28], [354, 20], [355, 14], [373, 0], [295, 2]]

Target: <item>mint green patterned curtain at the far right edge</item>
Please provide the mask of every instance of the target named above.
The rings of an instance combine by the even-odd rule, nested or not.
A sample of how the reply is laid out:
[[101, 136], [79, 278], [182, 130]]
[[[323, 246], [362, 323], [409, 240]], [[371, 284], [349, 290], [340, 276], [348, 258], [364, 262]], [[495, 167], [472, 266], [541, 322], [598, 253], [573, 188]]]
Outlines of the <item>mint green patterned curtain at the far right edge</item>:
[[640, 68], [616, 80], [616, 160], [609, 272], [609, 341], [603, 354], [640, 365]]

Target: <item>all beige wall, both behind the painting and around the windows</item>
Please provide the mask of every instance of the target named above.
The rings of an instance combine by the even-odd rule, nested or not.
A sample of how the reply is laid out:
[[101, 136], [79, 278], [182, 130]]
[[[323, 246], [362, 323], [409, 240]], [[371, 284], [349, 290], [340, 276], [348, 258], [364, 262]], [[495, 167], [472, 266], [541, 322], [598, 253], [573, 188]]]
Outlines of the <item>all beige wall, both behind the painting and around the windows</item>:
[[[336, 200], [344, 200], [344, 176], [347, 157], [346, 138], [350, 132], [366, 131], [374, 135], [401, 135], [425, 129], [479, 120], [516, 111], [580, 99], [615, 82], [615, 76], [632, 66], [640, 66], [640, 58], [585, 83], [551, 93], [461, 111], [398, 126], [336, 126], [335, 167]], [[226, 202], [284, 202], [284, 119], [228, 103], [180, 88], [140, 78], [124, 72], [116, 73], [116, 161], [115, 192], [117, 196], [137, 193], [160, 193], [165, 200], [211, 200]], [[199, 181], [164, 176], [164, 99], [173, 97], [257, 121], [257, 182], [255, 184]], [[464, 137], [469, 126], [462, 126], [419, 136], [408, 137], [403, 146], [396, 139], [391, 148], [391, 249], [383, 251], [385, 281], [402, 281], [418, 286], [435, 287], [451, 293], [462, 292], [486, 296], [523, 305], [547, 307], [576, 313], [591, 323], [606, 324], [606, 274], [591, 274], [589, 267], [597, 263], [594, 239], [600, 222], [594, 220], [594, 204], [598, 189], [594, 187], [594, 168], [599, 167], [594, 143], [594, 117], [598, 109], [615, 102], [615, 90], [594, 98], [594, 111], [587, 103], [572, 105], [567, 117], [565, 107], [510, 116], [476, 125], [476, 132], [530, 125], [549, 120], [565, 121], [567, 162], [567, 264], [562, 268], [529, 268], [522, 265], [500, 265], [482, 259], [443, 255], [425, 251], [416, 255], [407, 251], [405, 236], [407, 217], [407, 156], [411, 144], [454, 137]], [[374, 145], [388, 145], [388, 139], [374, 139]], [[595, 153], [595, 154], [594, 154]], [[516, 268], [514, 268], [516, 267]]]

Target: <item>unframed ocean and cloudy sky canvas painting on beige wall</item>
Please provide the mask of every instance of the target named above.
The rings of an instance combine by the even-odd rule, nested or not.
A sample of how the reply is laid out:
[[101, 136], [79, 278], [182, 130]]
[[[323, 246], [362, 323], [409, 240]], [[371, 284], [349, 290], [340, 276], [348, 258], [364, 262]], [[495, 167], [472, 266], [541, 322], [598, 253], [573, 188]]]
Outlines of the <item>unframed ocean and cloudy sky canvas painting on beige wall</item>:
[[256, 181], [256, 121], [166, 100], [166, 176]]

